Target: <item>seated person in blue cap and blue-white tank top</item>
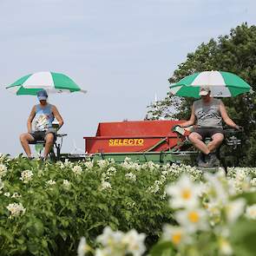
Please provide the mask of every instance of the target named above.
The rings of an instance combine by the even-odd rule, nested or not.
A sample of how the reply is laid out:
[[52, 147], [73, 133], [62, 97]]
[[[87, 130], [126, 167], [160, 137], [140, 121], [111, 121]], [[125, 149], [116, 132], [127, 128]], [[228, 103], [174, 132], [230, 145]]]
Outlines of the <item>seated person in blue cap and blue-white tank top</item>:
[[[43, 159], [46, 159], [56, 140], [56, 130], [52, 128], [52, 121], [56, 118], [59, 122], [59, 128], [63, 125], [62, 115], [60, 115], [56, 106], [47, 102], [48, 95], [46, 90], [37, 92], [39, 104], [34, 106], [30, 112], [27, 121], [28, 132], [20, 135], [20, 141], [27, 156], [32, 159], [30, 142], [31, 141], [45, 141]], [[32, 123], [34, 121], [34, 128]]]

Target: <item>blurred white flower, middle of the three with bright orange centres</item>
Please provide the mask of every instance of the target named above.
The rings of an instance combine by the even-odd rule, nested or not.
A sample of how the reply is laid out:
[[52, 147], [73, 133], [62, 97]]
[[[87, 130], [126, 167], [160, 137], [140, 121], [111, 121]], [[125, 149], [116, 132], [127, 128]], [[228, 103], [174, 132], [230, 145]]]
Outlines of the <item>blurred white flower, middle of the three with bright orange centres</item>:
[[207, 230], [207, 214], [200, 208], [188, 208], [175, 214], [176, 220], [188, 232], [194, 233], [198, 230]]

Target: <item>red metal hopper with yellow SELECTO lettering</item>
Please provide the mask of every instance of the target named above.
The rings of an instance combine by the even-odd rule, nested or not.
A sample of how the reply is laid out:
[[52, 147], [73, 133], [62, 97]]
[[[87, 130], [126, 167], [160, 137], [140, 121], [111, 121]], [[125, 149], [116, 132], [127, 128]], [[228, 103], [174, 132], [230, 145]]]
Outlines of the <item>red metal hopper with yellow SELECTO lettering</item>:
[[182, 121], [121, 121], [99, 123], [95, 137], [85, 139], [85, 152], [164, 152], [179, 147], [185, 137], [172, 129]]

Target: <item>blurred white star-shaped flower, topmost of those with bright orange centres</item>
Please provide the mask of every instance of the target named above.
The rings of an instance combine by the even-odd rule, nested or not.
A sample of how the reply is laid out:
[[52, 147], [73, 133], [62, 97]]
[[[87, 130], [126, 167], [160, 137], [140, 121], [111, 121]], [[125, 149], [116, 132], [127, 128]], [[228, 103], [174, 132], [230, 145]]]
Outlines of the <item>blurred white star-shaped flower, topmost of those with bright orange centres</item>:
[[201, 189], [201, 186], [191, 181], [187, 175], [182, 175], [175, 185], [167, 187], [167, 194], [172, 196], [169, 200], [170, 206], [174, 208], [197, 206]]

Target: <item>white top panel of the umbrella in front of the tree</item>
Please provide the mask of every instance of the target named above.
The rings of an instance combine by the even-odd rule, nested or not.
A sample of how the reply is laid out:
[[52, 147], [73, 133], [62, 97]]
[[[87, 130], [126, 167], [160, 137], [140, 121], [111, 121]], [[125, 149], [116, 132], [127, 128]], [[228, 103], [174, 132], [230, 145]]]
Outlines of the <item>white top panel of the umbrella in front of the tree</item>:
[[204, 71], [197, 75], [194, 79], [194, 82], [191, 83], [192, 86], [204, 86], [204, 85], [213, 85], [214, 86], [223, 86], [225, 81], [218, 71]]

